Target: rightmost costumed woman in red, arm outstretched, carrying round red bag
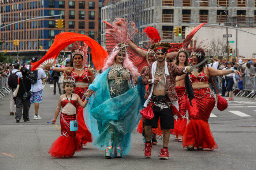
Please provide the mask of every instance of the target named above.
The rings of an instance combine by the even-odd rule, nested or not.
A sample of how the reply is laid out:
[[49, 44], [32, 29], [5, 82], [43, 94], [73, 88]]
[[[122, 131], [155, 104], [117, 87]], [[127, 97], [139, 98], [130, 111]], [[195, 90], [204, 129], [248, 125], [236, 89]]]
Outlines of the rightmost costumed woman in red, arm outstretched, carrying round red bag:
[[[191, 53], [193, 66], [205, 58], [205, 46], [200, 47], [200, 45]], [[188, 150], [218, 149], [208, 124], [211, 111], [215, 106], [214, 94], [209, 88], [208, 79], [209, 76], [227, 75], [232, 72], [240, 74], [237, 70], [216, 70], [212, 67], [205, 67], [204, 63], [194, 68], [192, 74], [189, 75], [195, 97], [191, 101], [192, 106], [187, 101], [189, 123], [182, 138], [183, 147], [187, 147]]]

